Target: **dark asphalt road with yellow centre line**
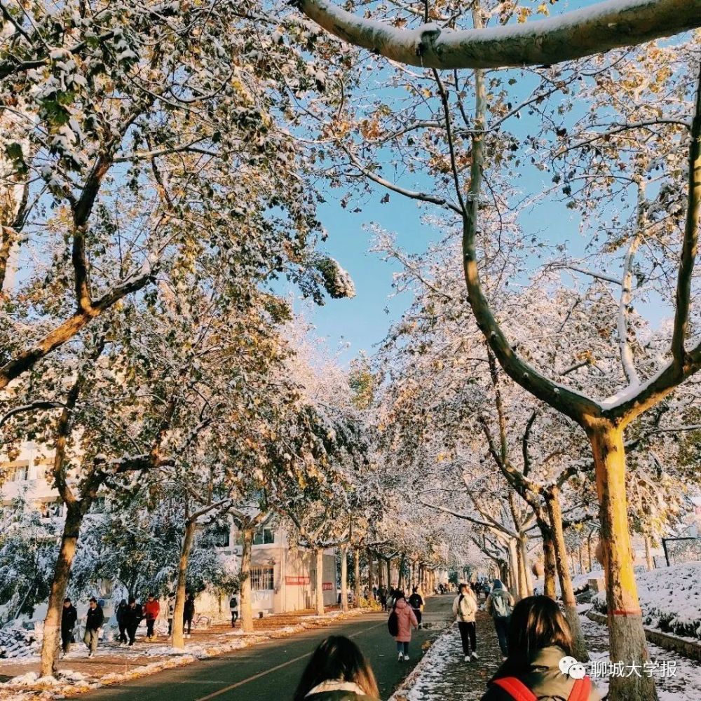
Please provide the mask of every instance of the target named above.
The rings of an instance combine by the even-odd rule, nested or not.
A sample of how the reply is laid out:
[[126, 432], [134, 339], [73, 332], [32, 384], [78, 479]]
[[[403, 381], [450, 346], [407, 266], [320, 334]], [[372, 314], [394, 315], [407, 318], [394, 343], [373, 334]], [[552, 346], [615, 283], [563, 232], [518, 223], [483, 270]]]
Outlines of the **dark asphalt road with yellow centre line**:
[[338, 625], [309, 630], [180, 669], [146, 676], [88, 695], [90, 701], [288, 701], [315, 647], [332, 634], [353, 638], [377, 676], [381, 697], [388, 698], [421, 658], [421, 644], [446, 625], [453, 597], [428, 599], [423, 622], [414, 632], [409, 662], [397, 662], [385, 614], [368, 613]]

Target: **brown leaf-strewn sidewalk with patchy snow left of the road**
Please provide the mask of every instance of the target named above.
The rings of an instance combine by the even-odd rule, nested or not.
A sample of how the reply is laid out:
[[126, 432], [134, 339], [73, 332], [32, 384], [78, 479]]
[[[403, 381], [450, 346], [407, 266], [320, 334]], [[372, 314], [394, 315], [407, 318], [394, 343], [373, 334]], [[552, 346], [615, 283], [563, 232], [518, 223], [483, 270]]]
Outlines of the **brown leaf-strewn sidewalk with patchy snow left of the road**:
[[[29, 698], [55, 698], [58, 695], [74, 695], [106, 684], [137, 679], [188, 665], [194, 660], [221, 655], [249, 647], [271, 638], [287, 637], [302, 630], [330, 625], [339, 618], [360, 615], [359, 608], [343, 614], [339, 606], [327, 606], [325, 615], [319, 617], [313, 610], [295, 611], [254, 619], [254, 632], [246, 634], [231, 624], [217, 623], [206, 629], [193, 628], [185, 641], [185, 650], [170, 647], [168, 636], [159, 635], [154, 641], [145, 639], [145, 627], [139, 627], [133, 646], [120, 647], [118, 643], [100, 643], [95, 657], [88, 660], [88, 650], [82, 641], [72, 646], [71, 652], [59, 662], [59, 676], [55, 681], [37, 679], [39, 658], [0, 660], [0, 700]], [[47, 693], [41, 694], [40, 692]]]

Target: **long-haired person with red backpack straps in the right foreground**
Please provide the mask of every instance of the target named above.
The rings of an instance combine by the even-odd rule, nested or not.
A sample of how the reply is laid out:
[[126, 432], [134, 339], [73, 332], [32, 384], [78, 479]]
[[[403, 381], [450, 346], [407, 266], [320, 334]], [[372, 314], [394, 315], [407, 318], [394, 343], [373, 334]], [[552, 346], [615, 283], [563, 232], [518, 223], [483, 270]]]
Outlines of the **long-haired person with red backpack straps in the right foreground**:
[[[601, 693], [585, 676], [585, 666], [564, 669], [572, 657], [570, 627], [550, 597], [526, 597], [513, 609], [508, 629], [508, 658], [490, 679], [482, 701], [578, 699], [600, 701]], [[581, 679], [578, 679], [581, 677]]]

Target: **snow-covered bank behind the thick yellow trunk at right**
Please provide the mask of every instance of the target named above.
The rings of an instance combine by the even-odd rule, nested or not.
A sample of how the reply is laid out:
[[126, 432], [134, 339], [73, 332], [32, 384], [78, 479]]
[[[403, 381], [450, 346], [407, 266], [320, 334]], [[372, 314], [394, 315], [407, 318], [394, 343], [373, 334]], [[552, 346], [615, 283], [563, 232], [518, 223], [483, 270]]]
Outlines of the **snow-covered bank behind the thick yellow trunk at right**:
[[[701, 639], [701, 562], [655, 569], [636, 579], [645, 625]], [[606, 594], [597, 594], [592, 604], [606, 613]]]

